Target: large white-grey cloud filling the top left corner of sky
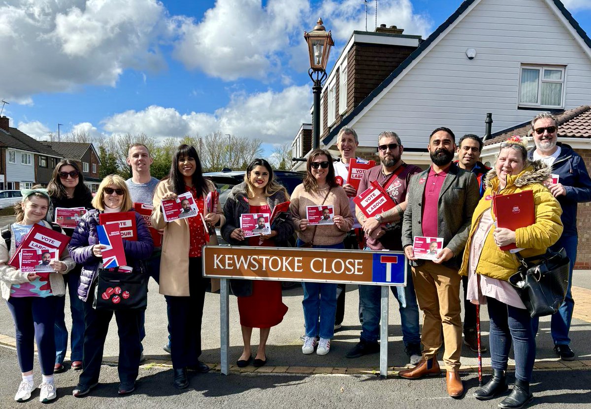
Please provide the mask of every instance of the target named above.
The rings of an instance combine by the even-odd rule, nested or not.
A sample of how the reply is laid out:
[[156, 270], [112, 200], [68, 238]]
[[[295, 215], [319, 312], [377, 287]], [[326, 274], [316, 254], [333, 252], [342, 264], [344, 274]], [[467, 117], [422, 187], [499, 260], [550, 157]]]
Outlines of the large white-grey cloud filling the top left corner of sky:
[[0, 95], [109, 85], [127, 68], [164, 66], [158, 48], [173, 32], [157, 0], [9, 0], [0, 4]]

